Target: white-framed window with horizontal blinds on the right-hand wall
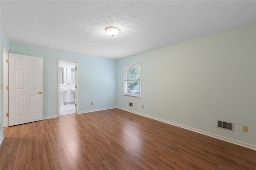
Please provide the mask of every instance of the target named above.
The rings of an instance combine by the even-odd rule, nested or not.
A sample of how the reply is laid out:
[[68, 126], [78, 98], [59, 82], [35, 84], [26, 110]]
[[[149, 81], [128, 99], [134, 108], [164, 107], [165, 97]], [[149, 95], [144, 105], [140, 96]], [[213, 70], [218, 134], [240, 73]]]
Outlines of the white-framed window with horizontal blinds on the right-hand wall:
[[140, 63], [124, 66], [124, 95], [140, 97]]

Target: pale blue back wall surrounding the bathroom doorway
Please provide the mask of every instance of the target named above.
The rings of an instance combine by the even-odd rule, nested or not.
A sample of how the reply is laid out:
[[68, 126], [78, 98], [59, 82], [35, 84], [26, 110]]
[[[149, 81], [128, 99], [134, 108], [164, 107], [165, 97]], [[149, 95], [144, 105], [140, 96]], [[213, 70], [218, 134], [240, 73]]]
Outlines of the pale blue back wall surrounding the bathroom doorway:
[[[115, 59], [16, 42], [10, 42], [10, 53], [44, 59], [44, 118], [57, 115], [58, 58], [78, 61], [79, 113], [116, 106]], [[91, 102], [94, 105], [91, 106]]]

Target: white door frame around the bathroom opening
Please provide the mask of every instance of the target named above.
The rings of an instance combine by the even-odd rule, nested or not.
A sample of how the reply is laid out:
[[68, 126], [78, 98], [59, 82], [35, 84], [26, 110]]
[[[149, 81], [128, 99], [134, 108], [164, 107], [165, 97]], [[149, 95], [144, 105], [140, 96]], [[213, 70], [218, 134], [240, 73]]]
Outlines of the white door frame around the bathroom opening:
[[57, 103], [58, 103], [58, 117], [60, 117], [60, 61], [65, 61], [65, 62], [70, 62], [70, 63], [75, 63], [76, 64], [76, 100], [75, 100], [75, 104], [76, 104], [76, 114], [78, 114], [78, 62], [77, 61], [73, 61], [73, 60], [67, 60], [67, 59], [59, 59], [58, 58], [58, 78], [57, 78], [57, 91], [58, 91], [58, 97], [57, 97]]

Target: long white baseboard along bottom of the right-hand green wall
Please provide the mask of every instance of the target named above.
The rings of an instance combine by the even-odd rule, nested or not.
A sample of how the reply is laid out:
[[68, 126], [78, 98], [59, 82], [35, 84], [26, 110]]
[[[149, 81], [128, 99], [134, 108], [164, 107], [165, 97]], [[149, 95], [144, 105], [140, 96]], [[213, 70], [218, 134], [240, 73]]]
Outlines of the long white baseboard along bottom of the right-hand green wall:
[[220, 139], [220, 140], [224, 140], [226, 142], [230, 142], [230, 143], [233, 143], [233, 144], [237, 144], [239, 146], [243, 146], [243, 147], [246, 147], [246, 148], [249, 148], [249, 149], [252, 149], [252, 150], [256, 150], [256, 145], [253, 145], [253, 144], [248, 144], [246, 142], [241, 142], [241, 141], [238, 141], [238, 140], [234, 140], [234, 139], [231, 139], [231, 138], [227, 138], [227, 137], [224, 137], [224, 136], [220, 136], [218, 134], [213, 134], [213, 133], [210, 133], [210, 132], [206, 132], [206, 131], [203, 131], [203, 130], [199, 130], [199, 129], [196, 129], [196, 128], [192, 128], [192, 127], [187, 127], [187, 126], [184, 126], [184, 125], [180, 125], [178, 123], [174, 123], [174, 122], [171, 122], [171, 121], [166, 121], [164, 119], [160, 119], [160, 118], [157, 118], [157, 117], [153, 117], [153, 116], [149, 116], [149, 115], [145, 115], [143, 113], [138, 113], [138, 112], [135, 112], [135, 111], [131, 111], [131, 110], [128, 110], [128, 109], [124, 109], [122, 107], [116, 107], [118, 109], [121, 109], [121, 110], [124, 110], [124, 111], [128, 111], [130, 113], [134, 113], [136, 115], [140, 115], [140, 116], [143, 116], [143, 117], [147, 117], [147, 118], [150, 118], [150, 119], [154, 119], [156, 121], [160, 121], [160, 122], [163, 122], [163, 123], [167, 123], [167, 124], [170, 124], [170, 125], [174, 125], [176, 127], [180, 127], [180, 128], [184, 128], [184, 129], [187, 129], [187, 130], [190, 130], [190, 131], [193, 131], [193, 132], [197, 132], [197, 133], [200, 133], [200, 134], [204, 134], [206, 136], [210, 136], [210, 137], [213, 137], [213, 138], [217, 138], [217, 139]]

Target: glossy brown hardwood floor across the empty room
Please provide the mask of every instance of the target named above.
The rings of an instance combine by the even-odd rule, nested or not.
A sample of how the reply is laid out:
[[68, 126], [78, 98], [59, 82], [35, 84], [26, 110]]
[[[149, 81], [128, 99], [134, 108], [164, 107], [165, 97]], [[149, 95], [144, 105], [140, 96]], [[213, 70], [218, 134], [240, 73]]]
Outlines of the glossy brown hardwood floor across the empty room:
[[256, 169], [256, 151], [111, 109], [4, 128], [1, 169]]

